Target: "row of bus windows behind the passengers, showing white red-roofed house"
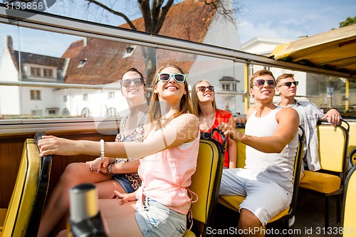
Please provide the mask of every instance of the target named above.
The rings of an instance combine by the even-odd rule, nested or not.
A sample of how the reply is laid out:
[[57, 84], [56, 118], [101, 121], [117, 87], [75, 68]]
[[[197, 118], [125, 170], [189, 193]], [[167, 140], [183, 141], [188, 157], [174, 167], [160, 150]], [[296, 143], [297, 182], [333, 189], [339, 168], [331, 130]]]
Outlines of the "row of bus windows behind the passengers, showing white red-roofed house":
[[[120, 116], [127, 110], [127, 102], [118, 92], [122, 73], [135, 67], [150, 86], [155, 69], [166, 63], [181, 66], [188, 73], [191, 87], [198, 80], [208, 80], [214, 85], [220, 109], [230, 110], [234, 115], [245, 112], [248, 90], [244, 89], [246, 76], [242, 63], [132, 43], [79, 38], [2, 24], [0, 27], [4, 48], [0, 55], [1, 119]], [[58, 43], [58, 39], [66, 43]], [[348, 106], [350, 111], [355, 109], [356, 83], [352, 80], [350, 92], [345, 95], [348, 83], [345, 78], [266, 65], [250, 64], [247, 71], [251, 75], [263, 68], [272, 70], [276, 78], [282, 73], [294, 73], [300, 82], [298, 100], [314, 102], [321, 108]], [[89, 85], [96, 88], [90, 89]], [[278, 100], [276, 96], [275, 102]]]

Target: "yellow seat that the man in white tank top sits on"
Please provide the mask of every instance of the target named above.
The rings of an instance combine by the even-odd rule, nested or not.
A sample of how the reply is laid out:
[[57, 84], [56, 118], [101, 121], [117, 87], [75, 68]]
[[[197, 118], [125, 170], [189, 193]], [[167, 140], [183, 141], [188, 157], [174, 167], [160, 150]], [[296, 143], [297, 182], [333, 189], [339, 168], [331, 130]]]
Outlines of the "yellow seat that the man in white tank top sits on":
[[[294, 172], [293, 172], [293, 197], [290, 205], [287, 209], [281, 211], [276, 216], [268, 221], [268, 223], [272, 223], [274, 221], [283, 221], [283, 226], [288, 229], [288, 220], [292, 218], [295, 214], [295, 209], [297, 206], [297, 198], [298, 198], [298, 186], [300, 180], [300, 170], [302, 165], [302, 156], [303, 156], [303, 147], [304, 147], [304, 131], [303, 128], [300, 127], [300, 135], [298, 137], [298, 149], [295, 153], [295, 161], [294, 161]], [[219, 196], [219, 204], [226, 206], [227, 208], [238, 211], [242, 201], [244, 201], [244, 196], [233, 195], [233, 196]], [[288, 231], [286, 232], [286, 236], [288, 236]]]

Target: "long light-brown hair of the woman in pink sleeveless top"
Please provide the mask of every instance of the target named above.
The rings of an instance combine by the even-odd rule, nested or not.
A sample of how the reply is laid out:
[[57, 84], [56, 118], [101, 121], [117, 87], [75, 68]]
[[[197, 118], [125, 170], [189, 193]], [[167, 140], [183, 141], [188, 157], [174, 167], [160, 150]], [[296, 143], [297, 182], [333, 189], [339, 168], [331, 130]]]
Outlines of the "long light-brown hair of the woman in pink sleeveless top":
[[[158, 73], [162, 72], [164, 68], [177, 68], [180, 73], [184, 74], [182, 68], [179, 68], [179, 66], [177, 65], [171, 65], [171, 64], [163, 65], [155, 73], [155, 77], [152, 80], [152, 82], [154, 82], [152, 83], [154, 86], [157, 80]], [[153, 127], [155, 127], [155, 130], [159, 130], [159, 128], [166, 126], [171, 120], [173, 120], [175, 117], [178, 117], [179, 115], [186, 114], [186, 113], [193, 113], [192, 101], [189, 95], [187, 80], [185, 80], [184, 82], [184, 89], [187, 93], [183, 95], [182, 99], [180, 100], [179, 110], [175, 112], [171, 118], [169, 118], [164, 122], [162, 122], [162, 113], [161, 113], [161, 107], [159, 105], [158, 94], [152, 93], [152, 97], [150, 101], [150, 120], [153, 123]]]

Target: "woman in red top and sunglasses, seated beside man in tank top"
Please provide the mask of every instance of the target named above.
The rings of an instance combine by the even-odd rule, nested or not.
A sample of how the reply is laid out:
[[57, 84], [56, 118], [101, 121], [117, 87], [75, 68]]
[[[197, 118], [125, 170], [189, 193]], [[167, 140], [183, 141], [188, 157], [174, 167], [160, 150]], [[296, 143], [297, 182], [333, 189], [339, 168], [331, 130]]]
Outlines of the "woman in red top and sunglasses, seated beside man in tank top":
[[[192, 88], [192, 103], [194, 114], [199, 115], [200, 132], [210, 132], [219, 127], [220, 122], [235, 126], [231, 112], [216, 108], [214, 86], [206, 80], [199, 80]], [[220, 135], [214, 134], [214, 139], [222, 143]], [[224, 167], [236, 168], [237, 144], [232, 139], [227, 139]]]

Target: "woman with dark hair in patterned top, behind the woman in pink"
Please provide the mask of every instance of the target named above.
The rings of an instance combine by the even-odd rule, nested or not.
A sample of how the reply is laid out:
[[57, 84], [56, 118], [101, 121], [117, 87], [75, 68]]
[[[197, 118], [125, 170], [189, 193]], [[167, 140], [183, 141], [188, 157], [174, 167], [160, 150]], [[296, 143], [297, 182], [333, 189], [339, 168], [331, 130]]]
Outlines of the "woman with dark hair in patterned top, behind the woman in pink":
[[[145, 80], [136, 68], [130, 68], [122, 74], [120, 85], [122, 95], [130, 108], [130, 114], [122, 118], [120, 133], [115, 141], [142, 142], [145, 136], [144, 125], [148, 120]], [[68, 191], [77, 184], [95, 183], [100, 199], [110, 198], [115, 190], [131, 193], [140, 187], [141, 179], [137, 174], [137, 167], [140, 164], [138, 159], [129, 162], [132, 159], [104, 157], [101, 160], [100, 158], [93, 162], [68, 164], [45, 206], [38, 236], [48, 236], [66, 215], [69, 209]], [[112, 174], [98, 172], [100, 166], [110, 167]]]

